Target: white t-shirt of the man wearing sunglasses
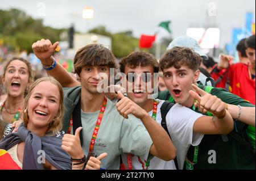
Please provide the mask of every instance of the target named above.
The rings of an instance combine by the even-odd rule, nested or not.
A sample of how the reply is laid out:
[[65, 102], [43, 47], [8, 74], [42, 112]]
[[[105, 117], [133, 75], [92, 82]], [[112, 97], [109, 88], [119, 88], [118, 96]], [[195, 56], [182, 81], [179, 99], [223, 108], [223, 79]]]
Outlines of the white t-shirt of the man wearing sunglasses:
[[[158, 110], [156, 112], [156, 121], [161, 124], [162, 116], [160, 108], [163, 104], [163, 100], [159, 100]], [[152, 115], [152, 110], [148, 112]], [[185, 157], [189, 146], [199, 145], [204, 134], [193, 133], [193, 124], [195, 121], [203, 116], [201, 113], [190, 110], [187, 107], [175, 104], [166, 115], [166, 124], [170, 133], [172, 142], [176, 148], [176, 157], [179, 164], [179, 169], [183, 169]], [[127, 154], [122, 154], [123, 163], [127, 167]], [[144, 162], [144, 160], [141, 159]], [[137, 156], [131, 157], [131, 162], [134, 170], [141, 170], [142, 163], [139, 162]], [[150, 161], [149, 170], [176, 170], [174, 161], [164, 161], [160, 158], [154, 157]]]

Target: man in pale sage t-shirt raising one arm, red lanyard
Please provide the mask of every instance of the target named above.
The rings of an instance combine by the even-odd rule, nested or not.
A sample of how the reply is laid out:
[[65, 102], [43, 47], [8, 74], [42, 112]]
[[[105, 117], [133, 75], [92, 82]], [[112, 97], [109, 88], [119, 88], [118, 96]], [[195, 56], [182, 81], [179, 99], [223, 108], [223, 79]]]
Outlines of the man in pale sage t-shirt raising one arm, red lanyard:
[[[68, 87], [64, 89], [63, 129], [69, 134], [63, 138], [63, 148], [77, 150], [82, 135], [82, 151], [73, 151], [77, 154], [74, 159], [81, 160], [90, 153], [100, 155], [106, 152], [108, 157], [102, 160], [101, 167], [119, 169], [122, 153], [132, 152], [144, 159], [150, 159], [152, 155], [164, 160], [175, 158], [176, 150], [170, 137], [146, 111], [123, 95], [115, 105], [105, 97], [104, 92], [98, 91], [102, 82], [109, 81], [110, 68], [116, 67], [114, 54], [108, 48], [89, 44], [77, 51], [74, 68], [81, 79], [77, 82], [53, 58], [57, 44], [52, 45], [51, 41], [42, 39], [34, 43], [32, 49], [47, 74], [63, 86], [66, 82], [65, 87]], [[129, 113], [132, 115], [128, 117]], [[72, 131], [73, 134], [75, 131], [78, 133], [72, 135]], [[77, 136], [79, 131], [80, 136]], [[72, 144], [67, 144], [66, 138]]]

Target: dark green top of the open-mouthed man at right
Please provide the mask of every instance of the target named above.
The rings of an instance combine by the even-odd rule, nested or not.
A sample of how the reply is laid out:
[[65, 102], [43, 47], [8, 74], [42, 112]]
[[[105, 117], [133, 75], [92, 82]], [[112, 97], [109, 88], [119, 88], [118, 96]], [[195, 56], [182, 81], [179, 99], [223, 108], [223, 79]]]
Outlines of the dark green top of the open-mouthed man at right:
[[[201, 86], [200, 88], [203, 89]], [[253, 104], [246, 102], [237, 95], [224, 89], [214, 87], [209, 93], [216, 95], [223, 102], [228, 104], [255, 107]], [[157, 97], [157, 95], [155, 95], [155, 97]], [[167, 90], [159, 92], [158, 99], [171, 100], [170, 92]], [[197, 109], [195, 111], [199, 112]], [[234, 120], [234, 123], [233, 132], [236, 132], [248, 142], [254, 142], [255, 146], [255, 127], [248, 126], [247, 124], [236, 120]], [[247, 136], [247, 132], [254, 134], [254, 138], [250, 139]], [[199, 145], [197, 163], [194, 165], [194, 169], [255, 169], [255, 156], [252, 151], [234, 140], [233, 137], [229, 135], [227, 135], [227, 137], [228, 141], [224, 141], [225, 139], [222, 139], [220, 134], [205, 135]], [[193, 161], [194, 148], [195, 147], [191, 146], [188, 150], [188, 159], [190, 161]], [[208, 162], [208, 158], [212, 155], [210, 150], [214, 150], [216, 153], [216, 163]]]

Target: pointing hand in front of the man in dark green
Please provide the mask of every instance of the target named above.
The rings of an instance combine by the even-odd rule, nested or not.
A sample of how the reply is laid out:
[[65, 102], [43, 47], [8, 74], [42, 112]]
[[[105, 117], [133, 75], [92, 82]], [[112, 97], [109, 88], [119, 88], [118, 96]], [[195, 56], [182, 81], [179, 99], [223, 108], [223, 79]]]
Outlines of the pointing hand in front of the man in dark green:
[[[199, 108], [202, 113], [207, 113], [207, 111], [213, 113], [214, 116], [218, 118], [223, 118], [226, 114], [226, 103], [222, 102], [220, 98], [215, 95], [208, 94], [204, 90], [200, 89], [196, 85], [192, 85], [195, 91], [190, 90], [189, 94], [196, 100], [195, 106]], [[198, 94], [197, 94], [198, 93]]]

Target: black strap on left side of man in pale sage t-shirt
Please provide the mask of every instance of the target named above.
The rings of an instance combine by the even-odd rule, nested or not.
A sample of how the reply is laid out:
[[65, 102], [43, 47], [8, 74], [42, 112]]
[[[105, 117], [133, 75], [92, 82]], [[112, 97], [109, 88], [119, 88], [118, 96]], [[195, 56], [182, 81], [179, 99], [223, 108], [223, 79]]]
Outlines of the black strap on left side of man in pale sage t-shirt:
[[[72, 120], [73, 120], [73, 134], [75, 135], [76, 129], [82, 127], [81, 121], [81, 97], [79, 98], [79, 102], [76, 104], [75, 109], [72, 113]], [[82, 132], [80, 132], [80, 143], [82, 146]]]

